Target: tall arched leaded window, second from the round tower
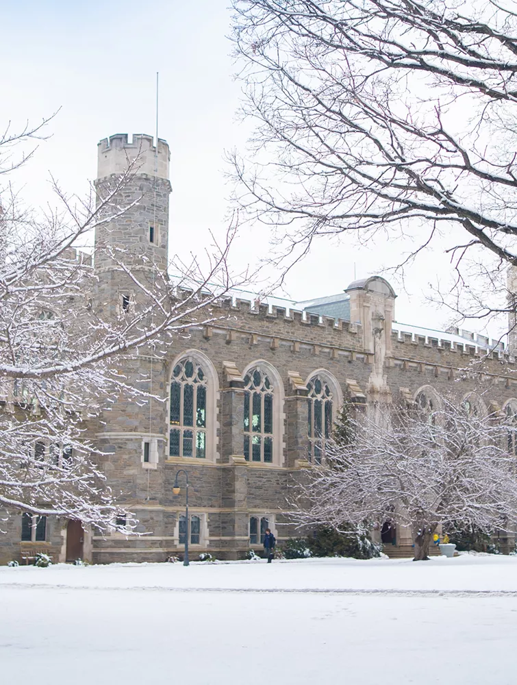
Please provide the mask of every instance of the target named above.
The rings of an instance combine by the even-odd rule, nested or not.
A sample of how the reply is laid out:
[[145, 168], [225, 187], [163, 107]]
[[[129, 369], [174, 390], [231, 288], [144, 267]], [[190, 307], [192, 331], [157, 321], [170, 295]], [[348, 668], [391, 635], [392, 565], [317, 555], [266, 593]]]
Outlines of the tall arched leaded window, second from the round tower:
[[265, 371], [244, 377], [244, 458], [273, 463], [273, 384]]

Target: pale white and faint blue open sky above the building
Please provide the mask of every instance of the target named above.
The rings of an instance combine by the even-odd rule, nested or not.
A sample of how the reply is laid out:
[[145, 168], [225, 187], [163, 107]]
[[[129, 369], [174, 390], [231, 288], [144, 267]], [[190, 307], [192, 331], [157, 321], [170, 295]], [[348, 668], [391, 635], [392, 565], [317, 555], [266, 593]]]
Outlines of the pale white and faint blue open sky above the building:
[[[244, 151], [251, 129], [237, 123], [241, 84], [233, 79], [228, 0], [17, 0], [3, 3], [0, 125], [37, 123], [61, 108], [36, 158], [13, 176], [31, 203], [49, 199], [49, 172], [68, 192], [88, 189], [97, 142], [115, 133], [155, 131], [155, 73], [160, 72], [160, 138], [171, 146], [173, 250], [187, 254], [222, 234], [230, 188], [225, 150]], [[268, 251], [264, 227], [242, 229], [236, 269]], [[403, 240], [370, 249], [353, 240], [321, 241], [288, 277], [285, 295], [297, 301], [333, 295], [354, 279], [396, 264]], [[429, 282], [444, 271], [440, 252], [420, 257], [399, 298], [396, 318], [445, 327], [448, 312], [424, 303]], [[482, 330], [481, 325], [464, 327]], [[492, 333], [495, 331], [492, 330]]]

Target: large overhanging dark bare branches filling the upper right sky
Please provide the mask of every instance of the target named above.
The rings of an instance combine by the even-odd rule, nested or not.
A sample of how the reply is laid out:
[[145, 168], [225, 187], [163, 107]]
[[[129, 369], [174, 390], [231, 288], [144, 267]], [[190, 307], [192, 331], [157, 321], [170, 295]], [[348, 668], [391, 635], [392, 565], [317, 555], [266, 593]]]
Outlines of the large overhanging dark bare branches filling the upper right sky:
[[[457, 270], [449, 306], [514, 312], [514, 298], [493, 299], [507, 295], [501, 264], [517, 264], [514, 3], [233, 6], [243, 114], [257, 121], [255, 160], [232, 156], [238, 201], [280, 227], [280, 257], [292, 263], [315, 236], [383, 229], [411, 259], [441, 236]], [[486, 282], [465, 301], [472, 268], [492, 301]]]

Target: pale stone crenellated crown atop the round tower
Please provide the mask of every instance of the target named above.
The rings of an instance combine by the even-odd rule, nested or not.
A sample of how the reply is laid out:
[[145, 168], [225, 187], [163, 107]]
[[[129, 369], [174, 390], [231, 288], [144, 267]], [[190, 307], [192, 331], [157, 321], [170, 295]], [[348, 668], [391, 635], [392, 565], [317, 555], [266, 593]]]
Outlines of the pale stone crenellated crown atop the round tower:
[[171, 151], [166, 140], [158, 138], [157, 172], [156, 148], [153, 136], [133, 134], [131, 142], [125, 133], [103, 138], [97, 146], [97, 178], [124, 173], [136, 161], [136, 173], [168, 179]]

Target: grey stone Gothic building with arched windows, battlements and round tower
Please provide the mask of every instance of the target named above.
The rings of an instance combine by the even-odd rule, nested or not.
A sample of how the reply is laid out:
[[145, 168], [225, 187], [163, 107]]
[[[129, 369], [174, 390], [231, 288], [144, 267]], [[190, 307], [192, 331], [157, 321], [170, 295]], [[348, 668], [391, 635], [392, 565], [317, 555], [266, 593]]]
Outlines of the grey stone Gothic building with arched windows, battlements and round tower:
[[[101, 140], [97, 179], [109, 184], [140, 153], [124, 192], [128, 203], [142, 192], [144, 199], [96, 240], [125, 247], [151, 279], [153, 264], [166, 265], [169, 240], [170, 153], [163, 140], [157, 145], [156, 151], [149, 136]], [[95, 268], [99, 309], [116, 315], [131, 306], [134, 293], [120, 271], [109, 260]], [[110, 486], [149, 534], [97, 536], [75, 521], [48, 520], [38, 528], [14, 516], [0, 562], [36, 549], [55, 560], [94, 563], [181, 556], [184, 473], [181, 493], [173, 493], [179, 469], [189, 479], [191, 558], [201, 551], [242, 558], [262, 547], [265, 527], [279, 540], [295, 534], [282, 513], [286, 493], [300, 470], [320, 458], [344, 399], [373, 410], [438, 401], [437, 393], [452, 390], [481, 412], [517, 416], [514, 360], [501, 343], [396, 323], [395, 300], [379, 276], [310, 302], [234, 297], [220, 303], [215, 323], [192, 329], [164, 358], [133, 358], [127, 376], [138, 382], [142, 373], [151, 375], [153, 393], [166, 402], [142, 408], [121, 398], [95, 438]], [[467, 366], [473, 370], [464, 373]], [[385, 530], [383, 538], [393, 554], [407, 553], [411, 544], [406, 530]]]

